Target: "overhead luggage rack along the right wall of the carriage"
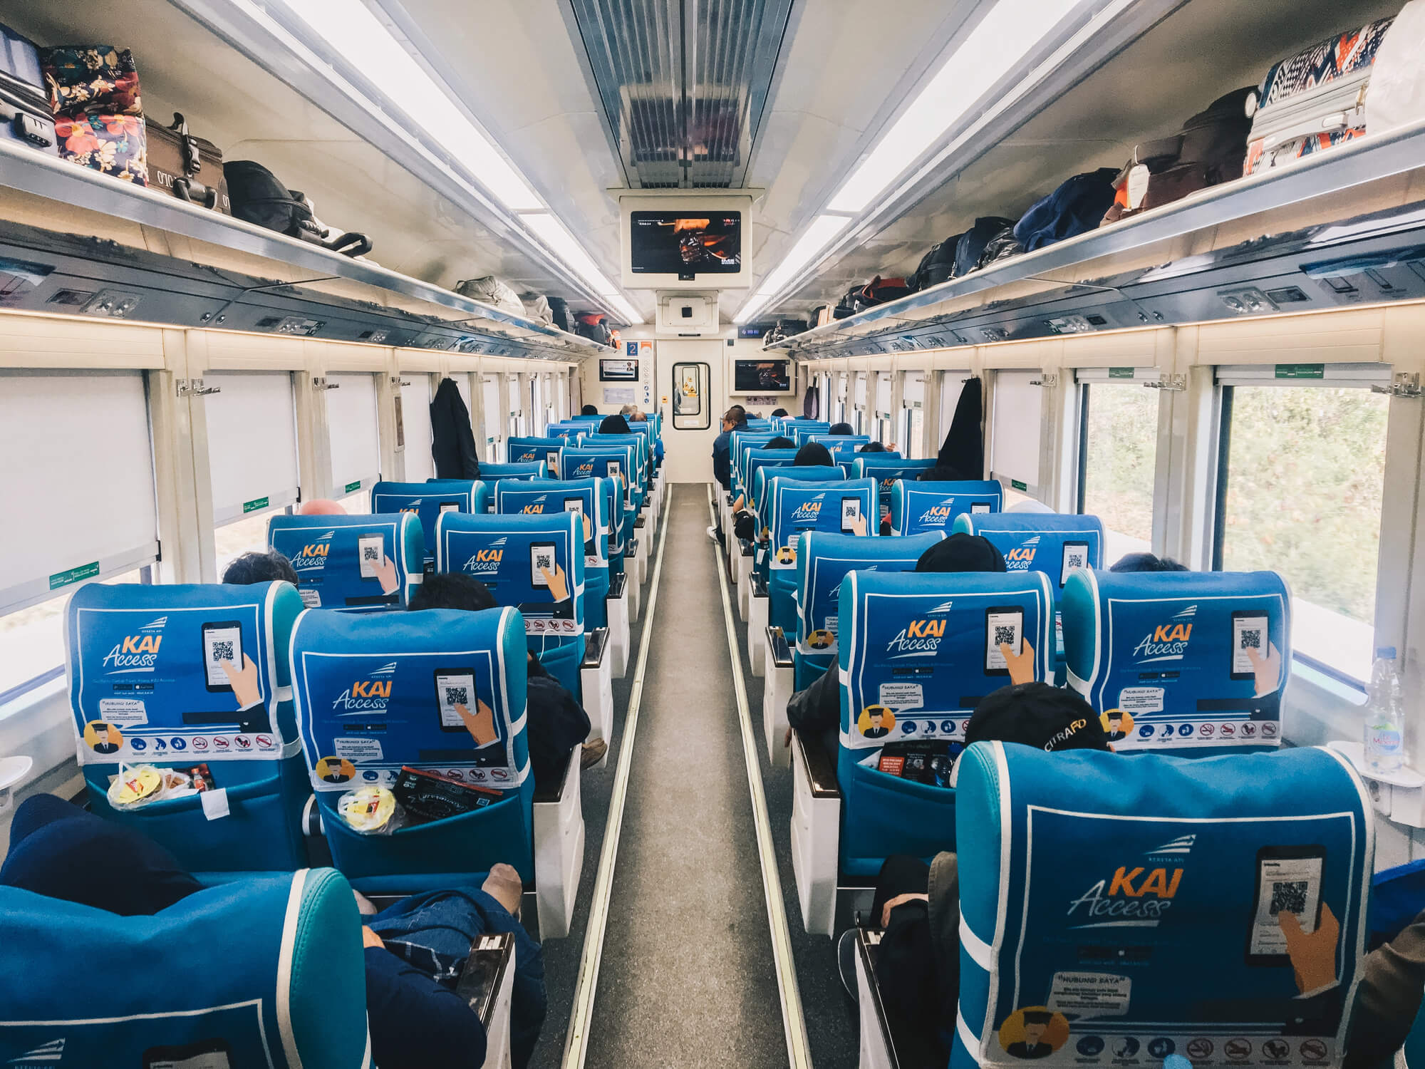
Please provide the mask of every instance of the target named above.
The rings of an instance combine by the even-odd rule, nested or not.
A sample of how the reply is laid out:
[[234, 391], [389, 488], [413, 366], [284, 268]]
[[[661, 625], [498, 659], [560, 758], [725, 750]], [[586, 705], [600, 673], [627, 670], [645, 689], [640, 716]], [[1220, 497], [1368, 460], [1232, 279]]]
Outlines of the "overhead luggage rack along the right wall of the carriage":
[[1425, 123], [768, 345], [798, 359], [1425, 299]]

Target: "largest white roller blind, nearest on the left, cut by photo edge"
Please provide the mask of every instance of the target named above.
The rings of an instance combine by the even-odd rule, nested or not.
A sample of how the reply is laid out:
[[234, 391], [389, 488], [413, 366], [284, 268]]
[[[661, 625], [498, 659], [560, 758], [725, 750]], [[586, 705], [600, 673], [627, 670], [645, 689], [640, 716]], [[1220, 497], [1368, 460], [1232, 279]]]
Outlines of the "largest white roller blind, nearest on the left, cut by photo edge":
[[155, 559], [141, 372], [0, 372], [0, 611]]

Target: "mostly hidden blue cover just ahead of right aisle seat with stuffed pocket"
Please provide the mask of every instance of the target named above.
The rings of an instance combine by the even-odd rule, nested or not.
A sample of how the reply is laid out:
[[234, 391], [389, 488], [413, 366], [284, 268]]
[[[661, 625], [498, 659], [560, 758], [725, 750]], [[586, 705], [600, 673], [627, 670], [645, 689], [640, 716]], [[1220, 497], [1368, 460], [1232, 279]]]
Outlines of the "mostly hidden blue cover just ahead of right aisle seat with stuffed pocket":
[[913, 572], [921, 554], [945, 537], [932, 530], [908, 539], [862, 539], [809, 530], [797, 540], [797, 688], [836, 661], [841, 584], [849, 572]]

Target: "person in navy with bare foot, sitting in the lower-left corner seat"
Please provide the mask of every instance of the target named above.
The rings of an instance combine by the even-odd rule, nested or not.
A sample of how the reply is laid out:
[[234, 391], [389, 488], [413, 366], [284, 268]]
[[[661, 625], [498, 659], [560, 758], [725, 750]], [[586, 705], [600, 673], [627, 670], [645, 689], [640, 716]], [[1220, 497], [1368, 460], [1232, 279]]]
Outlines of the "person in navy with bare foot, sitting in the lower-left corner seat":
[[[147, 835], [53, 794], [26, 798], [14, 811], [0, 884], [120, 916], [150, 916], [202, 889]], [[370, 1053], [382, 1069], [484, 1062], [484, 1026], [455, 983], [470, 944], [490, 932], [514, 936], [510, 1039], [513, 1063], [529, 1063], [546, 993], [543, 951], [516, 918], [522, 887], [510, 865], [496, 865], [483, 887], [413, 895], [380, 912], [356, 895]]]

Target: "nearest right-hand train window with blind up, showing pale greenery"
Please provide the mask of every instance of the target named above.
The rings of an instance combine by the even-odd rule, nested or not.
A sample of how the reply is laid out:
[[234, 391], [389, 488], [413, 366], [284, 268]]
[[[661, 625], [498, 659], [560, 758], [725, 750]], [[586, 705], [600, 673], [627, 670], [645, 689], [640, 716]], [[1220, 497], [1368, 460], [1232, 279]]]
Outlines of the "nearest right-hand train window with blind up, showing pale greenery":
[[1285, 576], [1295, 656], [1364, 681], [1375, 644], [1389, 398], [1362, 385], [1220, 381], [1213, 567]]

